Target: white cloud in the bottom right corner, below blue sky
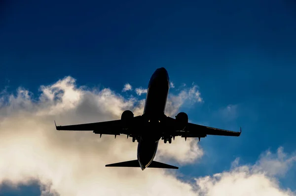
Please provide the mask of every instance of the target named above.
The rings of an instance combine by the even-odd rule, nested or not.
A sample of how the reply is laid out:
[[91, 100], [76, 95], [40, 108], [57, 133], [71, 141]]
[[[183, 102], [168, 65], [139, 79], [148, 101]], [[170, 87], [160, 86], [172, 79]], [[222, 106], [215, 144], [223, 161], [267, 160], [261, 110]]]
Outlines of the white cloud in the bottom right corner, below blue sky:
[[254, 165], [239, 165], [239, 159], [232, 163], [231, 170], [212, 176], [196, 178], [199, 196], [296, 196], [290, 189], [281, 189], [278, 174], [283, 175], [296, 156], [283, 153], [262, 153]]

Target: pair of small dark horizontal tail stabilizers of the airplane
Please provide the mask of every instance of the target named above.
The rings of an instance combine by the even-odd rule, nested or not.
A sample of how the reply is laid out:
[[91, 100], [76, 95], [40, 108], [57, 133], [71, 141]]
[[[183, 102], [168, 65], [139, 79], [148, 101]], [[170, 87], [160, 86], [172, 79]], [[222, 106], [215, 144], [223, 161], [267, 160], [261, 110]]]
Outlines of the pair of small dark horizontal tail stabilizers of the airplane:
[[[120, 162], [120, 163], [112, 163], [112, 164], [106, 164], [106, 167], [140, 167], [140, 164], [138, 160], [133, 160], [133, 161], [127, 161], [127, 162]], [[148, 165], [150, 168], [165, 168], [165, 169], [179, 169], [179, 167], [165, 164], [165, 163], [160, 163], [160, 162], [155, 162], [152, 161]]]

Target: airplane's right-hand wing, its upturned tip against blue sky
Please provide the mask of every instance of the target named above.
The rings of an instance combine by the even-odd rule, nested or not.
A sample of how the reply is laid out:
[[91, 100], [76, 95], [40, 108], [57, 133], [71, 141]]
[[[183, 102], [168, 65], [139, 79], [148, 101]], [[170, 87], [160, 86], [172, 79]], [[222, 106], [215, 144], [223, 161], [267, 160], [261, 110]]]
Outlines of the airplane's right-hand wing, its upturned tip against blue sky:
[[[171, 117], [169, 118], [169, 123], [171, 126], [173, 125], [174, 127], [178, 128], [178, 125], [176, 125], [176, 119], [173, 119]], [[222, 130], [222, 129], [217, 129], [213, 127], [207, 127], [207, 126], [202, 126], [202, 125], [197, 125], [193, 123], [187, 123], [186, 127], [184, 130], [174, 130], [172, 133], [172, 136], [181, 136], [181, 137], [206, 137], [207, 135], [223, 135], [223, 136], [240, 136], [241, 134], [241, 128], [240, 132], [236, 131], [228, 131], [228, 130]]]

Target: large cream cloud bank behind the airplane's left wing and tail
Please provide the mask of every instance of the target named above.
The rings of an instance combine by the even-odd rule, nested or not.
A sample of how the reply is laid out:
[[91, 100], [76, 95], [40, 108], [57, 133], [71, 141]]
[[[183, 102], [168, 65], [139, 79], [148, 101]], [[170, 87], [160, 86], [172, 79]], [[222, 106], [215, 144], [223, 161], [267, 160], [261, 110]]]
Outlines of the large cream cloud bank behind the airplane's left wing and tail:
[[[100, 138], [91, 131], [56, 131], [54, 127], [54, 119], [58, 125], [106, 121], [119, 119], [126, 109], [140, 115], [145, 99], [124, 98], [110, 89], [77, 87], [72, 77], [39, 90], [39, 95], [23, 88], [15, 95], [1, 94], [0, 160], [5, 161], [0, 162], [0, 183], [16, 186], [38, 180], [43, 195], [194, 194], [189, 183], [168, 170], [106, 168], [108, 163], [137, 158], [137, 142], [131, 138]], [[178, 108], [169, 111], [174, 115]], [[170, 144], [181, 157], [164, 145], [168, 146], [160, 142], [158, 159], [187, 163], [202, 155], [194, 140]]]

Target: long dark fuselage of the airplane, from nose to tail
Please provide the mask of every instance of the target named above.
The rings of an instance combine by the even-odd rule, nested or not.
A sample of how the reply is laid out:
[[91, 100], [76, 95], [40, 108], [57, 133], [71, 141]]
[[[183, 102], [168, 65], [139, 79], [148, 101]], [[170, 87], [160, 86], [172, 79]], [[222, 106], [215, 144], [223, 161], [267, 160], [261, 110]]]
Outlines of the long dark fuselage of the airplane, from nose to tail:
[[[159, 128], [157, 125], [164, 116], [169, 88], [170, 81], [167, 70], [163, 67], [156, 69], [148, 84], [143, 113], [153, 129], [149, 130], [150, 134], [141, 136], [138, 143], [137, 157], [142, 170], [153, 161], [157, 151], [160, 139], [160, 135], [157, 135]], [[154, 134], [151, 134], [151, 132], [154, 132]]]

